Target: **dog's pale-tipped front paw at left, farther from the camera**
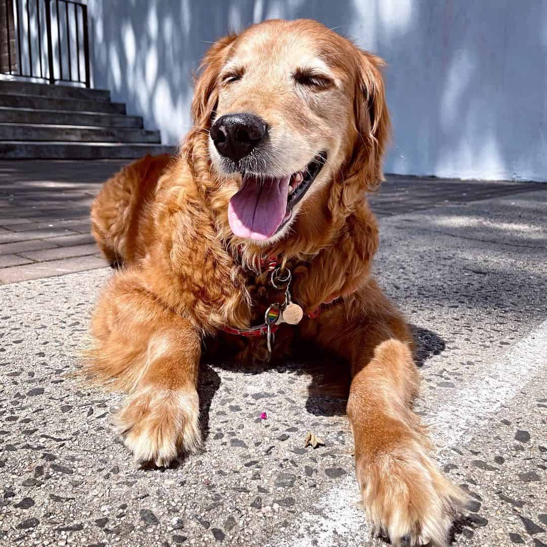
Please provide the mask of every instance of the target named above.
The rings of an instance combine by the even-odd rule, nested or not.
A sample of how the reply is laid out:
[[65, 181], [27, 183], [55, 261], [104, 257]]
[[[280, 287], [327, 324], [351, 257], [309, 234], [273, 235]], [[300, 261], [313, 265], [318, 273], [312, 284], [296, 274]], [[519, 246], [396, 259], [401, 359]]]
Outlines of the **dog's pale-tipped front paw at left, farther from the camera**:
[[180, 452], [199, 450], [197, 392], [194, 388], [190, 391], [153, 387], [139, 391], [117, 416], [117, 426], [137, 463], [165, 467]]

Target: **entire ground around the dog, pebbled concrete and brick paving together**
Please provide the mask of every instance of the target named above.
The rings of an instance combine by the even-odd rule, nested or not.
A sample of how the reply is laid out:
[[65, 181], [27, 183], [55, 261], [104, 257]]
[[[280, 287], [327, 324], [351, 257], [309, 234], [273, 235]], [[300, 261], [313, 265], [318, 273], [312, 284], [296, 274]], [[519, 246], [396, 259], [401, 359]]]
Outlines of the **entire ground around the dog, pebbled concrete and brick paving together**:
[[[69, 375], [111, 275], [87, 208], [117, 167], [0, 164], [0, 544], [385, 545], [354, 507], [345, 400], [310, 394], [313, 363], [203, 363], [203, 453], [133, 467], [120, 396]], [[547, 185], [390, 177], [372, 201], [376, 274], [420, 346], [417, 411], [472, 497], [453, 544], [547, 545]]]

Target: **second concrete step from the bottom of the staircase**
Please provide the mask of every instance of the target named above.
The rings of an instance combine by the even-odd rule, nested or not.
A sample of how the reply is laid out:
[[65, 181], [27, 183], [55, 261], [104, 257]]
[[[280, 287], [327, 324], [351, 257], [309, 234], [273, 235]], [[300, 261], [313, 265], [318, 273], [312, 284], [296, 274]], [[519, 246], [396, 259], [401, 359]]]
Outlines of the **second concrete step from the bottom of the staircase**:
[[119, 142], [160, 144], [159, 131], [77, 125], [2, 124], [0, 141]]

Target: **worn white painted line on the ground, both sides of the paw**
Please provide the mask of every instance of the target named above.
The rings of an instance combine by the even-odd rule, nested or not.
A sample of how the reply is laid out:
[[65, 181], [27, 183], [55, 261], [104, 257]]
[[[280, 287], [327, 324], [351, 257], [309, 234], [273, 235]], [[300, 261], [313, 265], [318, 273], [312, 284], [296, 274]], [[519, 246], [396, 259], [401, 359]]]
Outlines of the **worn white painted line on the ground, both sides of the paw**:
[[[484, 426], [502, 404], [513, 399], [517, 391], [544, 368], [547, 368], [547, 321], [477, 371], [478, 381], [458, 391], [457, 404], [437, 414], [433, 440], [444, 446], [467, 443], [474, 430]], [[328, 517], [302, 511], [296, 526], [291, 527], [293, 537], [276, 538], [270, 546], [353, 546], [357, 538], [369, 533], [363, 511], [353, 505], [358, 499], [355, 478], [348, 475], [316, 504]]]

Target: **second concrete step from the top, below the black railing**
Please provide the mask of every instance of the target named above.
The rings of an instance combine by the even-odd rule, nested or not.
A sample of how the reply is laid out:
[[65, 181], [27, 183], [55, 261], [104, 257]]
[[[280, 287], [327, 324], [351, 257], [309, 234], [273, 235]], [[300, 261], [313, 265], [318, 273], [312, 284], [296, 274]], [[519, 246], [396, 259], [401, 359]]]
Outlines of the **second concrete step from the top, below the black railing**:
[[0, 93], [0, 106], [125, 114], [125, 104], [123, 103], [88, 101], [86, 99], [61, 99], [56, 97], [42, 97], [40, 95], [8, 95]]

